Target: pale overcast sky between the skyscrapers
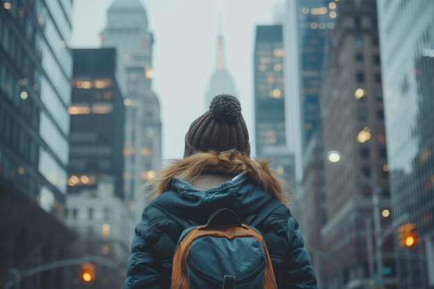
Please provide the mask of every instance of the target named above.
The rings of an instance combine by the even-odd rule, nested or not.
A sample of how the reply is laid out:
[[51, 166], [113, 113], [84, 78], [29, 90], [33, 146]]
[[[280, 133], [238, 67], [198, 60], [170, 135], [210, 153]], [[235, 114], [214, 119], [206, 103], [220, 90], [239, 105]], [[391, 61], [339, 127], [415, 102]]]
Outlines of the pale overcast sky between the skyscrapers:
[[[273, 7], [282, 0], [223, 0], [227, 68], [234, 78], [253, 142], [254, 27], [272, 24]], [[99, 47], [112, 0], [75, 0], [73, 47]], [[163, 123], [163, 158], [182, 157], [184, 135], [202, 114], [212, 71], [220, 0], [142, 0], [154, 34], [153, 89]]]

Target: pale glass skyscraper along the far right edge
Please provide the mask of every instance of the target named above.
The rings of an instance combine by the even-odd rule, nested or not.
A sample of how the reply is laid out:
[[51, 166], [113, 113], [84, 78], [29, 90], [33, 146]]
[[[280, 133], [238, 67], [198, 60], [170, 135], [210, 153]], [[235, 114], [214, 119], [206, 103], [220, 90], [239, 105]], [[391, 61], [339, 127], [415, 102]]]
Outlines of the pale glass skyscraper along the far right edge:
[[399, 247], [399, 288], [432, 288], [434, 2], [379, 0], [378, 10], [392, 216], [408, 213], [419, 236]]

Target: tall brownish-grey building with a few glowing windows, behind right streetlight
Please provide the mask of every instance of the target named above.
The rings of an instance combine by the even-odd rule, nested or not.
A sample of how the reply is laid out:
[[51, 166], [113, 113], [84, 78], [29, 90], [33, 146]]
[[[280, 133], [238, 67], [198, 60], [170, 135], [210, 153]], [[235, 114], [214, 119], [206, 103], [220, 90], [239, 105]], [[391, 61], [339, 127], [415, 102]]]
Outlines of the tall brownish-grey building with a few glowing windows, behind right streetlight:
[[[336, 13], [320, 105], [324, 155], [337, 151], [340, 161], [331, 157], [324, 164], [327, 223], [321, 241], [329, 259], [321, 276], [325, 288], [367, 288], [375, 270], [372, 224], [385, 229], [391, 219], [376, 1], [341, 1]], [[388, 272], [379, 286], [386, 288], [397, 288], [393, 250], [389, 237], [376, 251], [383, 253], [381, 270]]]

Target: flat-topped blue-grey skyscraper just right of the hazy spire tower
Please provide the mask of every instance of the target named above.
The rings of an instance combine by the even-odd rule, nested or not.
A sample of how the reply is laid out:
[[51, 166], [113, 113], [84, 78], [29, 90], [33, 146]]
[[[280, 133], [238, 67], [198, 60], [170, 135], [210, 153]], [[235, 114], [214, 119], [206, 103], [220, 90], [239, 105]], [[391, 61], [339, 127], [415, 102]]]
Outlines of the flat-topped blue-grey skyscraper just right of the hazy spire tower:
[[271, 159], [279, 175], [294, 183], [294, 159], [285, 129], [282, 26], [257, 26], [254, 45], [254, 121], [256, 155]]

